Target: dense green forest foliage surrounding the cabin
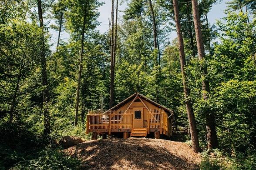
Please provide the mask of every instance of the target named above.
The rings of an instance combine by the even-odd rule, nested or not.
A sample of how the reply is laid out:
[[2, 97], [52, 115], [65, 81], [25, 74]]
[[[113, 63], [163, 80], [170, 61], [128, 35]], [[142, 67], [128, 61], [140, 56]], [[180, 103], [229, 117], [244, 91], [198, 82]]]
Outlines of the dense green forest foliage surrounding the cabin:
[[[135, 91], [175, 112], [176, 125], [189, 127], [185, 110], [177, 40], [171, 1], [152, 0], [158, 27], [159, 51], [153, 49], [152, 17], [147, 0], [129, 0], [118, 18], [115, 67], [115, 100], [119, 103]], [[209, 26], [207, 13], [216, 0], [199, 1], [206, 58], [197, 59], [191, 4], [180, 1], [185, 41], [186, 73], [191, 89], [202, 150], [206, 150], [205, 110], [215, 113], [219, 148], [215, 156], [202, 153], [201, 169], [254, 169], [256, 151], [256, 20], [255, 2], [229, 2], [226, 17]], [[74, 110], [84, 5], [84, 60], [78, 126]], [[75, 169], [80, 162], [59, 152], [54, 141], [65, 135], [84, 139], [88, 110], [108, 109], [110, 84], [109, 32], [95, 30], [99, 24], [98, 0], [43, 1], [44, 31], [38, 26], [35, 2], [0, 2], [0, 169]], [[6, 8], [3, 8], [6, 7]], [[248, 7], [248, 13], [243, 11]], [[52, 7], [52, 8], [51, 8]], [[242, 11], [240, 11], [242, 7]], [[53, 13], [53, 17], [49, 13]], [[60, 14], [63, 20], [60, 21]], [[206, 17], [205, 17], [206, 16]], [[51, 49], [50, 20], [63, 24], [69, 33], [57, 52]], [[187, 22], [189, 20], [189, 22]], [[51, 25], [57, 30], [58, 25]], [[49, 81], [50, 137], [45, 139], [42, 113], [40, 46], [44, 37]], [[52, 47], [53, 49], [53, 47]], [[158, 58], [158, 55], [160, 57]], [[201, 66], [208, 75], [201, 77]], [[210, 82], [209, 100], [202, 99], [202, 78]], [[13, 121], [9, 121], [13, 115]], [[185, 137], [189, 138], [189, 137]], [[221, 151], [220, 151], [221, 150]]]

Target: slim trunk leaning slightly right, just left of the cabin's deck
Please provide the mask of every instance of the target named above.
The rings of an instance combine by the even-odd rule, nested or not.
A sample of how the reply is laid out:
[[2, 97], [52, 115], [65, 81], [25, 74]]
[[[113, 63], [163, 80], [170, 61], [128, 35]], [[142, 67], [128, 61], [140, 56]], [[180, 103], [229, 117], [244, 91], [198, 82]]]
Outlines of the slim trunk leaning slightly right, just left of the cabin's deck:
[[75, 111], [74, 126], [77, 126], [77, 118], [78, 118], [78, 107], [79, 107], [79, 96], [80, 96], [80, 83], [81, 83], [81, 73], [82, 73], [82, 62], [83, 62], [83, 55], [84, 55], [84, 32], [85, 32], [87, 6], [88, 6], [88, 1], [85, 4], [84, 17], [83, 17], [83, 29], [81, 31], [82, 40], [81, 40], [79, 72], [78, 72], [78, 78], [77, 78], [77, 96], [76, 96], [76, 111]]

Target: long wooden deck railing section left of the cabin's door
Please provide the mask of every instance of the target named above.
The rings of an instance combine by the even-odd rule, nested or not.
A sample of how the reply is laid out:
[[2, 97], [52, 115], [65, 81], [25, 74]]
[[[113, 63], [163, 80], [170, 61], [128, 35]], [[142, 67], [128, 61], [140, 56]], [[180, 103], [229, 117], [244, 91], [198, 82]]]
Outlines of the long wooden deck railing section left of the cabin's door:
[[132, 110], [91, 111], [87, 115], [87, 133], [91, 129], [131, 129]]

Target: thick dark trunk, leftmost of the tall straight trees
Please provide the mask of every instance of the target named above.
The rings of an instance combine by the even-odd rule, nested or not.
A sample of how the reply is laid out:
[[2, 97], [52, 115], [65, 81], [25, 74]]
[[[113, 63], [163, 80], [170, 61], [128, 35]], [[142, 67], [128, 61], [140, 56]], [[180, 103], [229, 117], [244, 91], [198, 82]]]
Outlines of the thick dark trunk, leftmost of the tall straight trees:
[[[37, 0], [37, 9], [39, 17], [39, 26], [44, 31], [44, 20], [42, 12], [42, 2]], [[50, 126], [50, 113], [49, 113], [49, 98], [48, 98], [48, 81], [47, 81], [47, 72], [46, 72], [46, 57], [45, 57], [45, 42], [44, 35], [41, 37], [41, 47], [40, 47], [40, 60], [41, 60], [41, 76], [42, 76], [42, 85], [44, 86], [43, 90], [43, 114], [44, 114], [44, 135], [47, 136], [51, 132]]]

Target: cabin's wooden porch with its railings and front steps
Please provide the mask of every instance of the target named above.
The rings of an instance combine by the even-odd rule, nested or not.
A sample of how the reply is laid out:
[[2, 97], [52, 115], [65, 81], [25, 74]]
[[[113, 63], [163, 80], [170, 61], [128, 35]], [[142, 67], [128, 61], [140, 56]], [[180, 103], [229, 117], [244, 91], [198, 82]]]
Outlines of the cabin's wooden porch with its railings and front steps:
[[142, 119], [143, 127], [138, 127], [135, 112], [128, 110], [91, 110], [87, 115], [86, 133], [98, 134], [131, 133], [131, 136], [146, 136], [150, 132], [168, 134], [168, 116], [163, 109], [148, 109]]

